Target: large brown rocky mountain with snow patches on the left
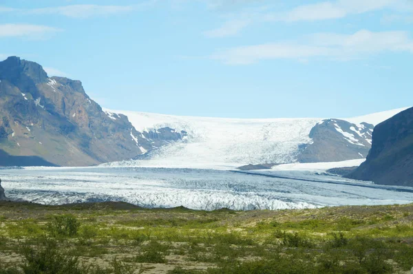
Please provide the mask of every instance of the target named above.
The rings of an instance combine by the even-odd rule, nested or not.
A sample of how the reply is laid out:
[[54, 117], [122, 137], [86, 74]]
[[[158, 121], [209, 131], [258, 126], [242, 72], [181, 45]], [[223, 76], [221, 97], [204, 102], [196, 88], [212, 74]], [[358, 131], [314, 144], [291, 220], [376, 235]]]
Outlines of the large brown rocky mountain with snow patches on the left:
[[37, 63], [0, 62], [0, 165], [97, 165], [182, 136], [170, 128], [136, 131], [127, 116], [104, 112], [80, 81], [48, 77]]

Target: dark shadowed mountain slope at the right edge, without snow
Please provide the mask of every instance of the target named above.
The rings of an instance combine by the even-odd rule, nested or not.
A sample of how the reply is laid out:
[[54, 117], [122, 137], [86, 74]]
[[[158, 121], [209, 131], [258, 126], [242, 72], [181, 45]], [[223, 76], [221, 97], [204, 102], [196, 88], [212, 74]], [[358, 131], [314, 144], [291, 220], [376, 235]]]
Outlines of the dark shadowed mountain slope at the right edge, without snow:
[[366, 162], [349, 178], [413, 187], [413, 108], [377, 125]]

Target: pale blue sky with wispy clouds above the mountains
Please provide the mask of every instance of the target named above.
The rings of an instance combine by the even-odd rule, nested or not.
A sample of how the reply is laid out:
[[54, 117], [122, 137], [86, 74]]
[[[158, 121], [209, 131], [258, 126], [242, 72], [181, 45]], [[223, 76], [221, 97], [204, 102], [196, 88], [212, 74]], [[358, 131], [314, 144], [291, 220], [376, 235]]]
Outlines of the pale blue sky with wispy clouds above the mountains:
[[109, 109], [359, 116], [413, 105], [413, 0], [0, 0], [7, 56]]

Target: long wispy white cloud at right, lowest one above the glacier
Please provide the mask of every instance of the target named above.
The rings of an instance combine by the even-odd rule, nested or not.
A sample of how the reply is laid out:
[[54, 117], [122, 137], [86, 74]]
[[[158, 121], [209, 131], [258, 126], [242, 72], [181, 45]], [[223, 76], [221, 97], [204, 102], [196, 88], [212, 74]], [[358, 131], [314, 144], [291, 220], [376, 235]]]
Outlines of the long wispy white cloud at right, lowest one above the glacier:
[[306, 36], [301, 41], [277, 42], [229, 48], [213, 54], [229, 65], [246, 65], [271, 59], [307, 61], [315, 57], [332, 60], [363, 58], [381, 52], [410, 52], [413, 40], [407, 32], [370, 32], [360, 30], [354, 34], [320, 33]]

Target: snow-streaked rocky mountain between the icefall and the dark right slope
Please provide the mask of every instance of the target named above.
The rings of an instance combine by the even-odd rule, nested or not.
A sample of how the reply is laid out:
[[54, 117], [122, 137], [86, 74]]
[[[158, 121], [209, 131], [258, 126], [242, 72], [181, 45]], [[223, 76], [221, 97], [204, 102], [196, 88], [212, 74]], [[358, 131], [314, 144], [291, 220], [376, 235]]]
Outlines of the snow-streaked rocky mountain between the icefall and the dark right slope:
[[310, 131], [313, 142], [300, 148], [299, 162], [338, 162], [366, 158], [374, 125], [355, 125], [346, 120], [327, 119]]

